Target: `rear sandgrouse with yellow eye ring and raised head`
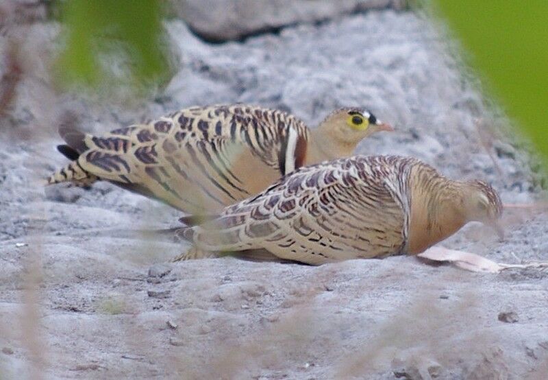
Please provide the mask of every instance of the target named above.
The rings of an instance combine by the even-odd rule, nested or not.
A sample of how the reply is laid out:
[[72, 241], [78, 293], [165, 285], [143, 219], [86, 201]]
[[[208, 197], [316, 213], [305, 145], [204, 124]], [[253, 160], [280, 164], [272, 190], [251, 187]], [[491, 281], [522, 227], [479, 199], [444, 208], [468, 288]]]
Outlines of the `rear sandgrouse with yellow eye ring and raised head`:
[[49, 184], [108, 180], [186, 213], [218, 212], [303, 165], [350, 156], [358, 143], [392, 130], [371, 112], [343, 108], [310, 130], [279, 110], [194, 107], [156, 121], [92, 136], [60, 128], [71, 163]]

